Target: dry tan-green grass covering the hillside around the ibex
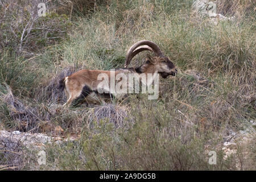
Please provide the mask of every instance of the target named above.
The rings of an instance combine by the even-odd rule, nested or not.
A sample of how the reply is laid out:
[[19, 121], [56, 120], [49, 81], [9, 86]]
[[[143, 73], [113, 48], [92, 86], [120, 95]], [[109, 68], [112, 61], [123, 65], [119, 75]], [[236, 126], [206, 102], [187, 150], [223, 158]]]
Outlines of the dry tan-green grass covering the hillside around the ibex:
[[[232, 131], [255, 133], [253, 1], [217, 1], [217, 13], [236, 19], [216, 26], [193, 13], [192, 1], [145, 2], [97, 1], [94, 10], [92, 1], [84, 1], [93, 11], [83, 8], [79, 11], [86, 13], [71, 16], [67, 11], [73, 28], [61, 44], [28, 59], [2, 50], [0, 128], [56, 135], [60, 126], [61, 137], [78, 138], [47, 146], [46, 166], [39, 167], [32, 154], [20, 154], [30, 164], [18, 169], [255, 168], [245, 155], [255, 153], [253, 144], [238, 143], [241, 150], [227, 160], [221, 149]], [[160, 80], [158, 100], [137, 94], [96, 106], [61, 106], [66, 100], [57, 89], [61, 78], [82, 68], [122, 67], [127, 48], [142, 39], [159, 44], [179, 69], [176, 77]], [[218, 165], [208, 164], [208, 150], [217, 152]], [[0, 165], [19, 165], [8, 161]]]

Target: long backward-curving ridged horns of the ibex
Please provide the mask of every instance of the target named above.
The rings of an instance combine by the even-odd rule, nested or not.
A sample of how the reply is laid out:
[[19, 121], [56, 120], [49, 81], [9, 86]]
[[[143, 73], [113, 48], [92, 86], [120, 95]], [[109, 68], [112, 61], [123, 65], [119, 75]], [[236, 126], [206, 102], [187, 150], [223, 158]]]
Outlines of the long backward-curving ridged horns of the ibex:
[[139, 52], [147, 51], [147, 50], [154, 52], [156, 56], [159, 56], [159, 57], [163, 56], [163, 53], [157, 44], [155, 44], [154, 42], [151, 42], [150, 40], [141, 40], [135, 43], [133, 46], [131, 46], [131, 48], [127, 51], [125, 68], [130, 64], [131, 59], [133, 59], [135, 55], [137, 55]]

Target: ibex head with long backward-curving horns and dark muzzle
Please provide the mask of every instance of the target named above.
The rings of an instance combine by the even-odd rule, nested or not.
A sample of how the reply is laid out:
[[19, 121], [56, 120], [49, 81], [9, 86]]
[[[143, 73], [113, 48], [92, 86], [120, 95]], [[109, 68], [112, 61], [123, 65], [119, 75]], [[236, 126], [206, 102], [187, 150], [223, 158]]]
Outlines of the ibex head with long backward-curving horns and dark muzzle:
[[142, 51], [152, 51], [155, 53], [155, 56], [147, 55], [146, 61], [137, 70], [142, 73], [157, 72], [163, 78], [167, 78], [169, 75], [175, 76], [177, 69], [174, 63], [163, 55], [158, 45], [150, 40], [141, 40], [131, 46], [129, 51], [127, 51], [125, 68], [130, 64], [131, 59]]

